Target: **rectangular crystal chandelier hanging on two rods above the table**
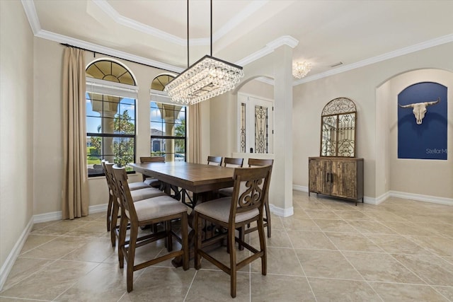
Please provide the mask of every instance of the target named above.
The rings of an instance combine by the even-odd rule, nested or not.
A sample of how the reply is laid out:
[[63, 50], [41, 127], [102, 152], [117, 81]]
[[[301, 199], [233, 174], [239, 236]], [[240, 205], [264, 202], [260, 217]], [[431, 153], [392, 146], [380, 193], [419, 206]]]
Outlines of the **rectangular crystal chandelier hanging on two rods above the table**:
[[189, 66], [189, 0], [187, 1], [187, 65], [188, 68], [164, 88], [173, 102], [200, 103], [230, 91], [243, 77], [241, 66], [212, 57], [212, 0], [211, 55], [205, 55], [192, 66]]

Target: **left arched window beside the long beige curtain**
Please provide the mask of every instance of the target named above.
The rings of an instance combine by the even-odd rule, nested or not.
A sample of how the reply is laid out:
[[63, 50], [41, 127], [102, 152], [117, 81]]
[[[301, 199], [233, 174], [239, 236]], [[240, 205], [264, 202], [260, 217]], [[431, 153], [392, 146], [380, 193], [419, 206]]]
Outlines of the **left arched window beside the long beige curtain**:
[[[88, 176], [103, 175], [101, 161], [126, 166], [135, 158], [137, 86], [119, 62], [100, 59], [86, 68]], [[127, 168], [127, 170], [130, 168]], [[130, 169], [132, 171], [132, 169]]]

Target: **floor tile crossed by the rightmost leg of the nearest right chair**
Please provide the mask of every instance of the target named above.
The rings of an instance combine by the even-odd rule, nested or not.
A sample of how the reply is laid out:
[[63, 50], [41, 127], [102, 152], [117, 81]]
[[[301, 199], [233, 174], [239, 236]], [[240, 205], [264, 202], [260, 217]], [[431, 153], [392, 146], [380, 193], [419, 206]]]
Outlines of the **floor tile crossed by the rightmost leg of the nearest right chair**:
[[[301, 265], [292, 248], [268, 248], [268, 274], [303, 276]], [[261, 272], [261, 261], [251, 263], [251, 272]]]

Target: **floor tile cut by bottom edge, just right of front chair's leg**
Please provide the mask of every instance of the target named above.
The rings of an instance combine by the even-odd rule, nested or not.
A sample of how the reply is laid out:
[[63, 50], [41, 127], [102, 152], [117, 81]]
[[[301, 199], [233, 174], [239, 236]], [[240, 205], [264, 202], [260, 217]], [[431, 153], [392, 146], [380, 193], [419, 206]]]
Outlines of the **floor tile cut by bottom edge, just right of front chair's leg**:
[[305, 277], [251, 274], [250, 301], [316, 301]]

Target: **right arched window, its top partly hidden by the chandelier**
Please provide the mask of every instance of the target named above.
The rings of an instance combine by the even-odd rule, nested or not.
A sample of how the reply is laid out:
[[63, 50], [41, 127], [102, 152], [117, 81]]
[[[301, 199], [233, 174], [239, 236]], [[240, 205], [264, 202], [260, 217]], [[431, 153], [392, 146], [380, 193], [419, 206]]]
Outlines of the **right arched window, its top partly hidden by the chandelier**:
[[151, 83], [150, 128], [151, 156], [165, 156], [166, 161], [185, 161], [186, 107], [174, 105], [164, 88], [174, 76], [161, 74]]

